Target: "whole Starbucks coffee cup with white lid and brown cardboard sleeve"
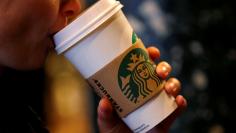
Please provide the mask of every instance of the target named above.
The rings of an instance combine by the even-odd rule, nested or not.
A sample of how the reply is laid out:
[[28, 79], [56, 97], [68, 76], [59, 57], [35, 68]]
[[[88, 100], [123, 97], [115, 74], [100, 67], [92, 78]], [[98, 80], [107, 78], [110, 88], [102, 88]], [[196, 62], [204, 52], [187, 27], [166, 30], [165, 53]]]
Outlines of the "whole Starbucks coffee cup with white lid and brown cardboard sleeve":
[[98, 95], [107, 97], [136, 133], [147, 132], [176, 108], [165, 81], [116, 0], [99, 0], [54, 36], [63, 54]]

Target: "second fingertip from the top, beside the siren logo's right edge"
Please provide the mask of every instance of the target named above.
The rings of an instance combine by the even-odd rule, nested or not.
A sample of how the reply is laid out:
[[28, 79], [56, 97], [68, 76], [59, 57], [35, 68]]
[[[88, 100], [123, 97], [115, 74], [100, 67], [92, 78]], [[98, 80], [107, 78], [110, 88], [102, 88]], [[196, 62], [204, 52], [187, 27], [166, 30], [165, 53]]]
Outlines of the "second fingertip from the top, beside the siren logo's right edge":
[[160, 62], [156, 67], [157, 75], [162, 79], [166, 79], [170, 74], [172, 67], [165, 61]]

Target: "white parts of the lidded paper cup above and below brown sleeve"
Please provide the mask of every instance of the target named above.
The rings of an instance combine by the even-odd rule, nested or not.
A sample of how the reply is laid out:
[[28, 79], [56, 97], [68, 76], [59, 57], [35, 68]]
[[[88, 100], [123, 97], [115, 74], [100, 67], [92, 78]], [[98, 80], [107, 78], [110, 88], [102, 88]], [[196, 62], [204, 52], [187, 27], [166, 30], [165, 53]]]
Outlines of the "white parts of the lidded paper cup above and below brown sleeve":
[[[133, 28], [116, 0], [100, 0], [54, 36], [63, 54], [88, 79], [130, 48]], [[147, 132], [169, 116], [177, 105], [161, 91], [122, 120], [133, 132]]]

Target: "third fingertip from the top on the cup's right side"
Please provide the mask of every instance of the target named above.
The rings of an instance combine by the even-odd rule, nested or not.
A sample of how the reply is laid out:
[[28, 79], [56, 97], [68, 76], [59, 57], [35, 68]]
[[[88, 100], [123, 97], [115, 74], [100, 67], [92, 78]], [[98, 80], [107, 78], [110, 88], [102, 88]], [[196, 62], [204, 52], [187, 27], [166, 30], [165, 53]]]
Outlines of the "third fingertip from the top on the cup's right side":
[[166, 81], [164, 89], [168, 94], [176, 97], [180, 92], [181, 83], [176, 78], [170, 78]]

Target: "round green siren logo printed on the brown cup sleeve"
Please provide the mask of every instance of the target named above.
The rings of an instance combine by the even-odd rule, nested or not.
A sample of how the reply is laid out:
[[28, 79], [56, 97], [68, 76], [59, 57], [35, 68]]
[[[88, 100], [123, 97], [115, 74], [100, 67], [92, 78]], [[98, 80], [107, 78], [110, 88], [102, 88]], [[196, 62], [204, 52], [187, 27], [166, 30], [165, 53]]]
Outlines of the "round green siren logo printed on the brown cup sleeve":
[[123, 59], [118, 83], [122, 93], [132, 102], [138, 103], [157, 89], [161, 84], [154, 64], [141, 48], [130, 51]]

